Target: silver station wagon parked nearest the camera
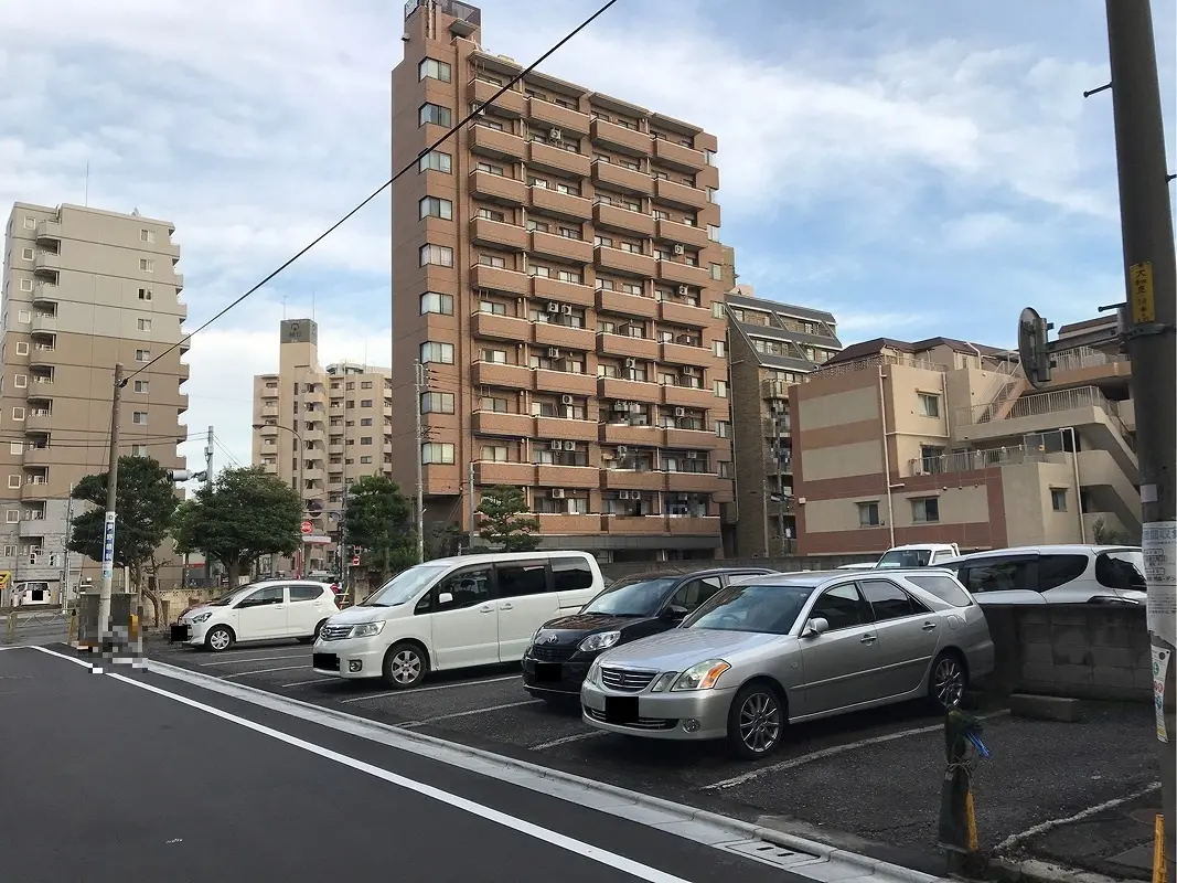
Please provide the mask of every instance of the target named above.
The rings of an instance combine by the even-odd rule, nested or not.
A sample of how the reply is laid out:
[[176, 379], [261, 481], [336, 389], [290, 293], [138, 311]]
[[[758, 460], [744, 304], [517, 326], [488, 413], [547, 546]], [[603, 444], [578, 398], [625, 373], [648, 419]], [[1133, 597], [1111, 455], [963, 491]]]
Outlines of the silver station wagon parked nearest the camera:
[[585, 723], [661, 739], [776, 749], [787, 722], [927, 697], [959, 704], [993, 670], [985, 617], [946, 570], [743, 579], [678, 629], [592, 664]]

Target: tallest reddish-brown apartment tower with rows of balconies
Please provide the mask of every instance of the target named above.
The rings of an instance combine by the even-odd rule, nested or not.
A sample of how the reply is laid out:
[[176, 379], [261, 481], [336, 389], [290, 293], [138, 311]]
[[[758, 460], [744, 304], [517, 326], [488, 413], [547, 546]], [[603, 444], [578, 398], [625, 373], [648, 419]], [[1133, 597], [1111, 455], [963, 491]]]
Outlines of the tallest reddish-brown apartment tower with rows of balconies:
[[526, 490], [545, 547], [722, 556], [732, 500], [716, 138], [485, 51], [481, 13], [406, 6], [392, 74], [393, 474], [467, 530]]

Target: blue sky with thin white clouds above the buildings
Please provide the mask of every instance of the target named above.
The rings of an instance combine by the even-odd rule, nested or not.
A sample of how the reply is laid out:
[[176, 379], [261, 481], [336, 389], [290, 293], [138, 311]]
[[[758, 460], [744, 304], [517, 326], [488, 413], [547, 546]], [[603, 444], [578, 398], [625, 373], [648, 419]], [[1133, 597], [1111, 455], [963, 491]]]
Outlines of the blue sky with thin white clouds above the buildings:
[[[485, 0], [531, 64], [601, 0]], [[1173, 161], [1177, 0], [1153, 0]], [[165, 218], [192, 331], [387, 180], [397, 0], [41, 0], [0, 8], [0, 210]], [[650, 39], [651, 34], [656, 39]], [[723, 241], [759, 297], [844, 343], [1015, 344], [1123, 298], [1103, 0], [619, 0], [544, 69], [719, 139]], [[88, 177], [87, 177], [88, 167]], [[248, 463], [282, 316], [390, 364], [390, 200], [192, 339], [181, 449]]]

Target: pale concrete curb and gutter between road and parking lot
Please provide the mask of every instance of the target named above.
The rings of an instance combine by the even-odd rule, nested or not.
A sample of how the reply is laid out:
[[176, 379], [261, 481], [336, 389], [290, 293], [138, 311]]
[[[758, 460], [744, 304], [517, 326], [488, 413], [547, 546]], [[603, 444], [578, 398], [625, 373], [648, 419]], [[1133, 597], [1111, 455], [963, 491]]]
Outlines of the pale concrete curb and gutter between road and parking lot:
[[[368, 718], [359, 717], [358, 715], [348, 715], [344, 711], [338, 711], [332, 708], [326, 708], [322, 705], [315, 705], [314, 703], [302, 702], [301, 699], [293, 699], [287, 696], [278, 696], [267, 690], [260, 688], [250, 686], [248, 684], [228, 683], [221, 680], [212, 675], [205, 675], [204, 672], [191, 671], [178, 665], [169, 665], [167, 663], [155, 662], [154, 659], [147, 663], [148, 671], [157, 671], [165, 677], [172, 677], [177, 680], [184, 680], [198, 686], [207, 686], [214, 689], [214, 692], [220, 692], [225, 695], [232, 695], [233, 692], [240, 693], [253, 693], [265, 697], [272, 703], [278, 703], [280, 705], [294, 705], [299, 708], [305, 708], [307, 710], [313, 710], [317, 713], [326, 715], [337, 721], [354, 722], [355, 719], [364, 721], [365, 724], [378, 728], [386, 732], [397, 736], [399, 739], [408, 743], [417, 743], [421, 748], [428, 746], [432, 751], [415, 751], [414, 753], [425, 755], [434, 761], [440, 761], [441, 763], [451, 763], [444, 756], [439, 756], [438, 751], [451, 752], [458, 756], [471, 757], [477, 761], [487, 764], [494, 764], [497, 766], [510, 766], [519, 771], [526, 772], [528, 775], [536, 776], [538, 778], [552, 779], [556, 782], [563, 782], [570, 785], [576, 785], [577, 788], [584, 788], [587, 790], [597, 791], [598, 794], [605, 794], [611, 797], [623, 798], [625, 801], [638, 804], [639, 806], [646, 806], [650, 809], [661, 810], [664, 812], [671, 812], [684, 818], [694, 819], [699, 822], [705, 822], [714, 828], [725, 829], [731, 831], [733, 835], [732, 839], [763, 839], [767, 843], [772, 843], [778, 847], [796, 851], [805, 852], [813, 856], [817, 861], [829, 861], [829, 862], [842, 862], [857, 867], [863, 870], [864, 874], [873, 874], [880, 877], [885, 877], [895, 881], [903, 881], [903, 883], [942, 883], [943, 877], [936, 877], [930, 874], [924, 874], [923, 871], [916, 871], [911, 868], [904, 868], [898, 864], [892, 864], [890, 862], [884, 862], [878, 858], [871, 858], [870, 856], [858, 855], [857, 852], [850, 852], [844, 849], [838, 849], [836, 847], [830, 847], [825, 843], [819, 843], [817, 841], [811, 841], [805, 837], [798, 837], [796, 835], [786, 834], [784, 831], [777, 830], [774, 828], [765, 828], [763, 825], [757, 825], [751, 822], [742, 822], [737, 818], [729, 818], [727, 816], [720, 816], [717, 812], [711, 812], [709, 810], [700, 810], [693, 806], [687, 806], [686, 804], [674, 803], [673, 801], [666, 801], [661, 797], [653, 797], [651, 795], [645, 795], [639, 791], [631, 791], [618, 785], [611, 785], [604, 782], [593, 782], [592, 779], [583, 778], [581, 776], [576, 776], [571, 772], [564, 772], [563, 770], [554, 770], [548, 766], [540, 766], [539, 764], [527, 763], [526, 761], [519, 761], [513, 757], [506, 757], [504, 755], [497, 755], [491, 751], [485, 751], [483, 749], [472, 748], [470, 745], [463, 745], [458, 742], [448, 742], [446, 739], [438, 738], [435, 736], [428, 736], [426, 733], [415, 732], [413, 730], [405, 730], [392, 724], [386, 724], [379, 721], [371, 721]], [[215, 685], [215, 688], [213, 688]], [[410, 749], [411, 750], [411, 749]], [[1080, 883], [1076, 881], [1075, 883]], [[1085, 882], [1082, 882], [1085, 883]]]

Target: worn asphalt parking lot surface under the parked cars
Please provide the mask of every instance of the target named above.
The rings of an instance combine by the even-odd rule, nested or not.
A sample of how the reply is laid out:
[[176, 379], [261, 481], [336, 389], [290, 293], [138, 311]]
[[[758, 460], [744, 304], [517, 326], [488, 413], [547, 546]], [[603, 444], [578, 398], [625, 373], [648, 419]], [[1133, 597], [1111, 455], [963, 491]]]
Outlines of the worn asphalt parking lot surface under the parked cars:
[[[553, 708], [521, 688], [518, 666], [437, 675], [391, 691], [379, 680], [315, 675], [311, 648], [237, 646], [225, 653], [151, 644], [148, 656], [231, 682], [440, 738], [510, 755], [600, 782], [776, 824], [837, 845], [935, 871], [942, 719], [920, 705], [895, 706], [792, 728], [785, 746], [757, 763], [731, 759], [719, 744], [683, 744], [604, 735], [576, 705]], [[1051, 828], [1093, 806], [1148, 791], [1159, 778], [1146, 704], [1084, 708], [1082, 723], [1013, 718], [982, 701], [992, 758], [975, 775], [984, 848], [1032, 845]], [[1142, 836], [1148, 836], [1142, 825]], [[1110, 857], [1136, 836], [1103, 849]], [[1126, 838], [1126, 839], [1125, 839]], [[1086, 838], [1090, 844], [1090, 837]], [[1126, 845], [1125, 845], [1126, 844]], [[1055, 855], [1056, 861], [1065, 858]], [[1088, 864], [1091, 862], [1088, 861]]]

